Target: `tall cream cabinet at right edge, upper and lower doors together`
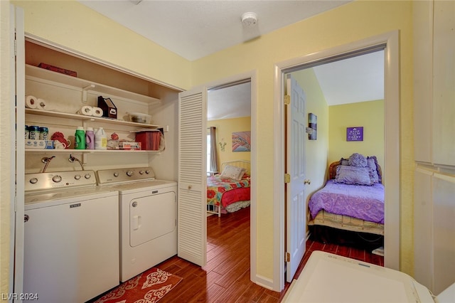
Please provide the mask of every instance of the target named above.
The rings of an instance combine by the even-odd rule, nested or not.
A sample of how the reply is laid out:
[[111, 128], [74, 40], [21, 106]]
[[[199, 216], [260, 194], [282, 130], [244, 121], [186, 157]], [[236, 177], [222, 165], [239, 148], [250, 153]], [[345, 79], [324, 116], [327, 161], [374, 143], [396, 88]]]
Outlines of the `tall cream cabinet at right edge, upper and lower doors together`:
[[455, 1], [413, 1], [414, 278], [455, 282]]

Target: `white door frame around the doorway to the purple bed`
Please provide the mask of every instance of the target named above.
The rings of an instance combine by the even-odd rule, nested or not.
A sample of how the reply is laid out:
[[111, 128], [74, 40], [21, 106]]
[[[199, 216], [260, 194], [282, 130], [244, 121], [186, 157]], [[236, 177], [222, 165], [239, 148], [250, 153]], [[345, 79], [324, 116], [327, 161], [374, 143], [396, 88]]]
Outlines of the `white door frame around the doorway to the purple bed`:
[[[385, 231], [384, 231], [384, 266], [400, 270], [400, 41], [399, 32], [391, 31], [382, 35], [365, 38], [360, 41], [336, 46], [327, 50], [293, 58], [274, 65], [274, 171], [284, 174], [284, 75], [301, 65], [352, 53], [373, 46], [385, 45]], [[283, 174], [274, 177], [274, 289], [284, 289], [284, 241], [285, 241], [285, 211], [284, 211], [284, 182]]]

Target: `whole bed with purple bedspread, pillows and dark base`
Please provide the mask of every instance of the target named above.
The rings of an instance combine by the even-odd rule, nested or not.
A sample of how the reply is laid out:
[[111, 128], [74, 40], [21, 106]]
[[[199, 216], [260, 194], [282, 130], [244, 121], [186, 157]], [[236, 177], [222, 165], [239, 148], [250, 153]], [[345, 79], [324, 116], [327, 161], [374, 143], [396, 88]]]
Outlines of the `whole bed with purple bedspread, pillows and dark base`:
[[[354, 155], [358, 156], [351, 157]], [[381, 243], [384, 186], [376, 157], [363, 157], [360, 167], [351, 166], [348, 159], [331, 163], [326, 185], [309, 199], [309, 213], [308, 226], [314, 240], [357, 244], [359, 238], [367, 236], [379, 239], [372, 245]]]

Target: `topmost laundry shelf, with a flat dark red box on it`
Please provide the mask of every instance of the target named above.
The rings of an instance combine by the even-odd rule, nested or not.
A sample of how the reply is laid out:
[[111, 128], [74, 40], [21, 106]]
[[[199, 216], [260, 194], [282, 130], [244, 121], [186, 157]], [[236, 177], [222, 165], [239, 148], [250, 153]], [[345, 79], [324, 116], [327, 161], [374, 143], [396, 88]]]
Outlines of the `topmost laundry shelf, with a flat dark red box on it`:
[[121, 90], [116, 87], [110, 87], [93, 81], [84, 80], [81, 78], [73, 77], [70, 75], [64, 75], [57, 73], [52, 70], [46, 70], [44, 68], [38, 68], [33, 65], [26, 64], [26, 79], [36, 80], [38, 82], [46, 83], [51, 82], [54, 85], [70, 86], [80, 89], [82, 92], [87, 90], [93, 90], [95, 92], [101, 92], [105, 95], [114, 95], [117, 97], [123, 97], [129, 100], [135, 100], [138, 102], [144, 102], [147, 104], [157, 104], [161, 100], [146, 95], [140, 95], [136, 92], [129, 92], [127, 90]]

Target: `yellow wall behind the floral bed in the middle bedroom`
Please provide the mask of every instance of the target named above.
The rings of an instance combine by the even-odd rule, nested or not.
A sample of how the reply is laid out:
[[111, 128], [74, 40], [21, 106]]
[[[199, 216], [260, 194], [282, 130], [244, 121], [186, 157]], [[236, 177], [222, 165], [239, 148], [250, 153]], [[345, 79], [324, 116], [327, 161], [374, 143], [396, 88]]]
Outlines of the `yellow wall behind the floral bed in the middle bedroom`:
[[[232, 132], [251, 131], [251, 117], [240, 117], [232, 119], [211, 120], [207, 127], [216, 127], [216, 149], [218, 151], [218, 169], [226, 161], [251, 159], [250, 151], [232, 151]], [[224, 139], [225, 151], [220, 149], [220, 142]], [[221, 172], [221, 171], [220, 171]]]

